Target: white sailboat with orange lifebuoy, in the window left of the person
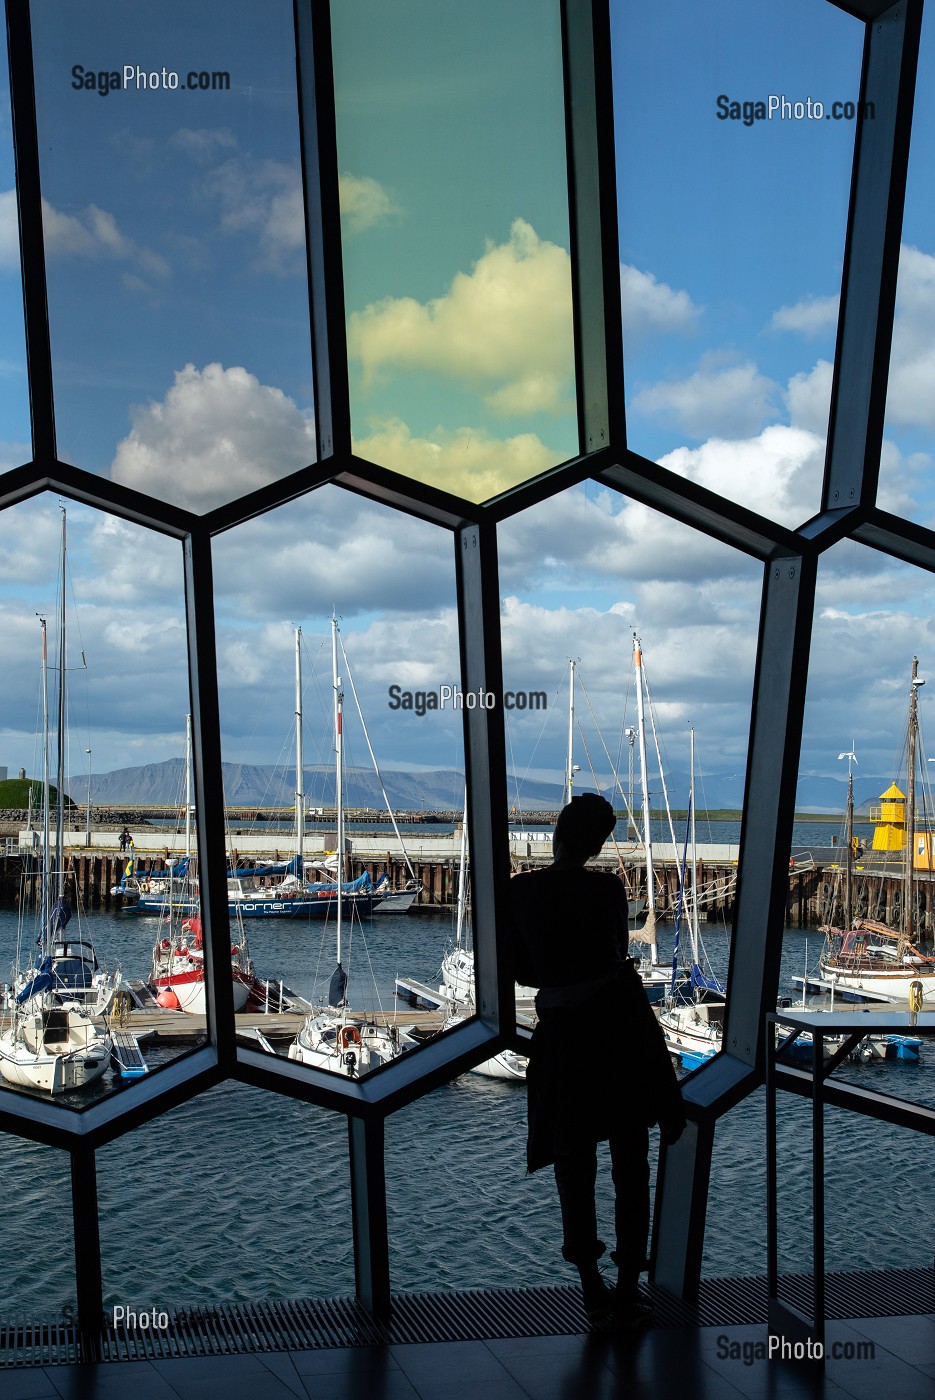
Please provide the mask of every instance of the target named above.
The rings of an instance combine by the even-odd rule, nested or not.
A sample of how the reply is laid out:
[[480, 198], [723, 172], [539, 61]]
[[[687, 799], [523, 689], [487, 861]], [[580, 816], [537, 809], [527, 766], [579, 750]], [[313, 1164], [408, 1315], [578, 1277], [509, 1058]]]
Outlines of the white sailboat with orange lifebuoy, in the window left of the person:
[[[388, 1064], [409, 1049], [409, 1037], [396, 1026], [378, 1025], [354, 1015], [347, 1005], [347, 972], [342, 958], [344, 910], [344, 690], [337, 673], [339, 626], [332, 616], [332, 687], [335, 717], [335, 808], [337, 815], [337, 879], [335, 889], [335, 951], [336, 966], [328, 988], [328, 1005], [305, 1018], [295, 1040], [288, 1047], [288, 1058], [318, 1070], [330, 1070], [349, 1078], [360, 1078], [370, 1070]], [[351, 903], [351, 914], [354, 904]]]

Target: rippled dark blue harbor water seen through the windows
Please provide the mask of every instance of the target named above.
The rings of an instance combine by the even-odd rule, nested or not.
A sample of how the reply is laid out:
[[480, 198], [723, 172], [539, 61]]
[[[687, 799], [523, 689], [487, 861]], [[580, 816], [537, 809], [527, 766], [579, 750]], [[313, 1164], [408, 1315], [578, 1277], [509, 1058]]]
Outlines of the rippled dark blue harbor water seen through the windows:
[[[83, 927], [109, 966], [119, 962], [127, 977], [147, 974], [155, 920], [98, 914]], [[302, 994], [330, 976], [333, 935], [322, 924], [253, 920], [248, 934], [260, 976], [281, 976]], [[712, 970], [724, 976], [726, 930], [703, 928], [703, 937]], [[15, 938], [15, 911], [0, 910], [4, 980]], [[398, 973], [435, 983], [451, 938], [448, 916], [365, 921], [344, 956], [351, 1005], [393, 1005]], [[661, 956], [670, 946], [672, 930], [662, 925]], [[787, 931], [781, 991], [795, 995], [791, 979], [802, 974], [806, 956], [815, 967], [819, 948], [817, 934]], [[167, 1051], [147, 1054], [157, 1064]], [[585, 1026], [570, 1054], [578, 1057], [582, 1078], [606, 1072], [591, 1058]], [[917, 1064], [848, 1063], [838, 1077], [935, 1107], [934, 1071], [935, 1044], [927, 1043]], [[635, 1074], [621, 1026], [613, 1068], [621, 1093]], [[108, 1078], [105, 1086], [113, 1089], [113, 1082]], [[388, 1119], [395, 1289], [574, 1281], [558, 1252], [551, 1173], [525, 1172], [525, 1106], [522, 1085], [466, 1074]], [[654, 1165], [655, 1151], [654, 1142]], [[826, 1110], [829, 1268], [931, 1263], [931, 1152], [928, 1138]], [[610, 1247], [605, 1154], [600, 1228]], [[0, 1170], [0, 1317], [49, 1316], [74, 1306], [67, 1155], [3, 1135]], [[791, 1095], [780, 1102], [780, 1180], [784, 1268], [808, 1270], [810, 1106]], [[224, 1084], [102, 1148], [98, 1187], [106, 1306], [353, 1294], [347, 1126], [337, 1114]], [[761, 1092], [717, 1130], [704, 1271], [766, 1271]]]

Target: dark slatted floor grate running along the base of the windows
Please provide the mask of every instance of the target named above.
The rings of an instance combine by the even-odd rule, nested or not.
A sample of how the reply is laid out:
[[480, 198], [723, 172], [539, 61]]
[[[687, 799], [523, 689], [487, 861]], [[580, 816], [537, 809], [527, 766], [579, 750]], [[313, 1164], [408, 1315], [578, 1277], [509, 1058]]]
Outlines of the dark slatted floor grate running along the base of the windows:
[[[697, 1303], [649, 1285], [656, 1327], [736, 1327], [764, 1323], [766, 1280], [705, 1278]], [[789, 1274], [781, 1294], [810, 1305], [812, 1280]], [[827, 1316], [935, 1313], [935, 1270], [859, 1270], [829, 1274]], [[101, 1361], [155, 1361], [244, 1352], [375, 1347], [389, 1343], [481, 1341], [495, 1337], [554, 1337], [585, 1330], [577, 1288], [474, 1288], [461, 1292], [396, 1294], [389, 1323], [379, 1323], [353, 1298], [294, 1302], [218, 1303], [167, 1310], [165, 1327], [105, 1326]], [[84, 1359], [77, 1329], [62, 1322], [0, 1324], [0, 1368], [66, 1365]]]

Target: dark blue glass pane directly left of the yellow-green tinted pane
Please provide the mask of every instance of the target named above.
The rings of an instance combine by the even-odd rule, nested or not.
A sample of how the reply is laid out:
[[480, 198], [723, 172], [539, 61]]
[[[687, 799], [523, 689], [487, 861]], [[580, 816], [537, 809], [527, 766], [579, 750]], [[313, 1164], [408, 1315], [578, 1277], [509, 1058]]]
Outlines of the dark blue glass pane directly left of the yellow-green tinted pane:
[[315, 456], [293, 6], [256, 25], [34, 6], [59, 454], [193, 510]]

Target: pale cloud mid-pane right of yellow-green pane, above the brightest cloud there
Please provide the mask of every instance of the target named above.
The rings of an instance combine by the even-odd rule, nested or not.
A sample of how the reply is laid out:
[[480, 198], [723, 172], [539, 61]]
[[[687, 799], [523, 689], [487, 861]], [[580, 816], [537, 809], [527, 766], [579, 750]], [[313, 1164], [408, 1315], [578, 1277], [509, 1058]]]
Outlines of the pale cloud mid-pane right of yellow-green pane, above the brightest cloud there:
[[777, 396], [778, 386], [753, 361], [710, 351], [686, 379], [640, 389], [633, 407], [672, 419], [691, 437], [739, 437], [775, 417]]

